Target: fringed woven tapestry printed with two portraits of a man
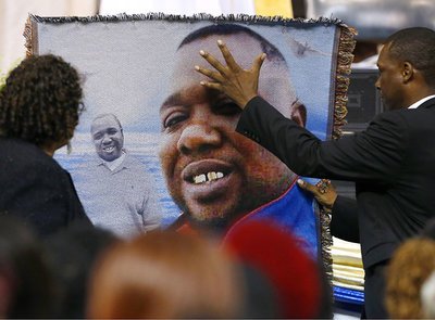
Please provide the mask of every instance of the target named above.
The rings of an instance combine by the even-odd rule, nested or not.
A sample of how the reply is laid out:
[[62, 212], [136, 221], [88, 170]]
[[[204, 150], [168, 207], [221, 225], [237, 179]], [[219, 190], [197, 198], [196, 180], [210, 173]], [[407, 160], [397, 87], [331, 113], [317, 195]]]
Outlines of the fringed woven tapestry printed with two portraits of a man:
[[[224, 238], [247, 219], [272, 219], [313, 258], [326, 248], [326, 218], [297, 187], [298, 175], [234, 131], [240, 110], [200, 86], [195, 65], [207, 66], [200, 50], [223, 62], [219, 39], [245, 68], [265, 52], [259, 94], [320, 139], [334, 139], [345, 121], [355, 46], [343, 22], [30, 15], [25, 36], [28, 54], [60, 55], [83, 76], [85, 111], [70, 152], [55, 159], [95, 225], [123, 236], [139, 225], [209, 226]], [[113, 132], [104, 121], [115, 121]]]

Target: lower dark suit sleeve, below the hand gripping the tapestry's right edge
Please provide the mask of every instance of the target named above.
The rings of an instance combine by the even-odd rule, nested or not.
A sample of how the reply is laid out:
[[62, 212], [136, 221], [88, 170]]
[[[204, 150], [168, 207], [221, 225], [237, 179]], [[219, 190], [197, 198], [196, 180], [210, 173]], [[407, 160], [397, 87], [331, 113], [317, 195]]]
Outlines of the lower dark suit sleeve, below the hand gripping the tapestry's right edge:
[[333, 206], [331, 233], [341, 240], [359, 243], [357, 210], [356, 200], [338, 195]]

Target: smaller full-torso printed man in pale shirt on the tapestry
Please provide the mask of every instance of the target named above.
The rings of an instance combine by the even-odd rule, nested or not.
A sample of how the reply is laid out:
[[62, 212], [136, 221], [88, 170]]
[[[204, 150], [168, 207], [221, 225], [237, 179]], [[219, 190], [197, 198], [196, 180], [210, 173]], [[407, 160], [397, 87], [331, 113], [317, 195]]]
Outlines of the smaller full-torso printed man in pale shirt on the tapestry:
[[162, 210], [147, 167], [124, 148], [124, 132], [114, 114], [92, 120], [96, 155], [75, 171], [85, 212], [94, 225], [129, 239], [160, 227]]

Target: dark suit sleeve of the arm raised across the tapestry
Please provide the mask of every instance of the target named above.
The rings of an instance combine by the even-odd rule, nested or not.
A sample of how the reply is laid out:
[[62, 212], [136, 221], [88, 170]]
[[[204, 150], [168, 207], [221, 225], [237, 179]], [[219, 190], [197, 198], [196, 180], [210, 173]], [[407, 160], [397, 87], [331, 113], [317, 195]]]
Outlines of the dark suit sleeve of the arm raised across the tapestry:
[[241, 113], [236, 130], [266, 148], [300, 176], [393, 181], [409, 140], [405, 128], [400, 114], [387, 112], [363, 132], [321, 141], [256, 97]]

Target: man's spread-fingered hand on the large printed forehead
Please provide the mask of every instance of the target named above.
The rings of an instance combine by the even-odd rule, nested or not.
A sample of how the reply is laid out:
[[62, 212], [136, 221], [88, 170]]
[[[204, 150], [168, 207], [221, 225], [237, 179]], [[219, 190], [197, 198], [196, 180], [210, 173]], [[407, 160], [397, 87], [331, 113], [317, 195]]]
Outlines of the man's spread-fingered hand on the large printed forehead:
[[202, 86], [211, 89], [217, 89], [228, 95], [238, 106], [245, 108], [246, 104], [258, 95], [258, 82], [260, 68], [266, 57], [265, 53], [260, 54], [254, 60], [250, 69], [241, 68], [231, 54], [228, 48], [221, 40], [217, 40], [217, 46], [225, 59], [226, 66], [222, 65], [213, 55], [204, 50], [200, 54], [207, 62], [212, 65], [217, 72], [208, 68], [195, 66], [195, 69], [204, 76], [211, 78], [211, 81], [201, 81]]

